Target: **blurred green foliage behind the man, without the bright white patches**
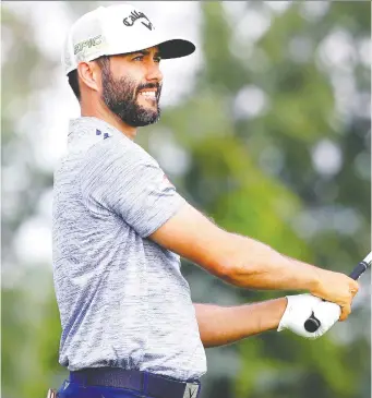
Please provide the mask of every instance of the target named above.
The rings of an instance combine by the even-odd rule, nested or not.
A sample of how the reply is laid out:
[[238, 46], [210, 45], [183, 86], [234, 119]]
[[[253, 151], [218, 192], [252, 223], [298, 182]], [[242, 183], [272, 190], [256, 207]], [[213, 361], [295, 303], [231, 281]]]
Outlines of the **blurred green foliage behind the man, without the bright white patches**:
[[[266, 2], [243, 4], [231, 19], [221, 2], [200, 3], [204, 63], [194, 89], [180, 105], [165, 109], [160, 123], [141, 133], [139, 143], [151, 150], [149, 136], [161, 147], [161, 140], [170, 134], [190, 159], [182, 173], [168, 172], [170, 179], [221, 227], [287, 255], [348, 272], [370, 245], [371, 120], [357, 104], [337, 111], [335, 93], [341, 77], [355, 82], [356, 98], [370, 93], [370, 68], [360, 61], [357, 48], [370, 37], [371, 4], [332, 2], [324, 15], [307, 17], [304, 3], [291, 3], [285, 12], [274, 13], [256, 43], [240, 38], [237, 50], [232, 43], [245, 13], [268, 12]], [[77, 16], [95, 3], [69, 2], [68, 7]], [[22, 162], [32, 182], [12, 196], [20, 210], [2, 214], [2, 258], [8, 268], [11, 264], [17, 269], [22, 264], [12, 253], [14, 233], [36, 212], [52, 176], [34, 166], [32, 143], [15, 134], [14, 104], [23, 116], [35, 111], [33, 92], [48, 84], [52, 64], [34, 45], [32, 24], [7, 5], [2, 5], [3, 27], [23, 58], [2, 61], [2, 165]], [[350, 68], [321, 59], [322, 44], [335, 32], [346, 35], [357, 53]], [[337, 48], [327, 48], [333, 50]], [[35, 70], [45, 79], [35, 80]], [[265, 94], [267, 106], [260, 114], [237, 114], [237, 102], [239, 107], [244, 101], [239, 94], [247, 86]], [[343, 159], [331, 174], [314, 167], [313, 150], [323, 140], [332, 142]], [[41, 397], [65, 375], [58, 364], [60, 324], [52, 278], [40, 269], [24, 270], [21, 284], [2, 287], [5, 398]], [[188, 262], [183, 274], [195, 302], [231, 305], [281, 294], [228, 286]], [[202, 397], [368, 398], [370, 321], [370, 307], [364, 305], [316, 341], [267, 333], [208, 349]]]

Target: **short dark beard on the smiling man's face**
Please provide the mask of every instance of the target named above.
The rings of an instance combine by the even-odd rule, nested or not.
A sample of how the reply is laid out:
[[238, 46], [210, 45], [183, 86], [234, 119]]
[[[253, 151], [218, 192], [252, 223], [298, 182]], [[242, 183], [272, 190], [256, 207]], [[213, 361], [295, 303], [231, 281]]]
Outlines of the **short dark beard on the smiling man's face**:
[[[147, 83], [137, 85], [130, 77], [115, 79], [109, 68], [103, 68], [103, 94], [101, 99], [119, 119], [124, 123], [141, 128], [156, 123], [160, 118], [159, 99], [161, 85]], [[137, 104], [140, 92], [146, 88], [156, 88], [156, 106], [143, 107]]]

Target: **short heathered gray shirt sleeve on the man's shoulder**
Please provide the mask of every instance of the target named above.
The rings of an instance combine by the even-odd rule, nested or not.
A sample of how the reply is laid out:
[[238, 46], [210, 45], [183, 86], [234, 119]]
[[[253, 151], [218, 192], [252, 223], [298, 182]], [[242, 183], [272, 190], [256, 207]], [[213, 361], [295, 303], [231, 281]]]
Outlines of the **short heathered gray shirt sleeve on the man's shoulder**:
[[155, 232], [185, 202], [155, 159], [124, 140], [108, 138], [88, 152], [81, 188], [87, 207], [94, 204], [115, 213], [142, 238]]

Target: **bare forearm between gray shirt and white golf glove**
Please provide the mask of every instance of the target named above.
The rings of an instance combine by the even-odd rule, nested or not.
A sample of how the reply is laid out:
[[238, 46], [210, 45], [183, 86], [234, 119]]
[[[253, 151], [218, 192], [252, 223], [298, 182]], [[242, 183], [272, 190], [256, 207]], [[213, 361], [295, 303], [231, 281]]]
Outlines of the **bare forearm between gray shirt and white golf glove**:
[[195, 303], [199, 331], [203, 346], [218, 347], [277, 328], [287, 306], [280, 298], [238, 306]]

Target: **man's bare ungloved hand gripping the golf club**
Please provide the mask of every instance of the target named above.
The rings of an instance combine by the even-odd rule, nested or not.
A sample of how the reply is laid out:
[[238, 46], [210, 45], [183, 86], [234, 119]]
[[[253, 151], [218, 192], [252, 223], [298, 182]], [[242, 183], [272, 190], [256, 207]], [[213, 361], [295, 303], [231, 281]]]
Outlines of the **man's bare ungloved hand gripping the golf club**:
[[323, 269], [319, 285], [311, 290], [311, 293], [338, 304], [341, 307], [339, 321], [345, 321], [351, 312], [351, 301], [358, 290], [359, 285], [356, 280], [344, 274]]

